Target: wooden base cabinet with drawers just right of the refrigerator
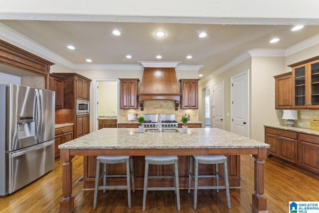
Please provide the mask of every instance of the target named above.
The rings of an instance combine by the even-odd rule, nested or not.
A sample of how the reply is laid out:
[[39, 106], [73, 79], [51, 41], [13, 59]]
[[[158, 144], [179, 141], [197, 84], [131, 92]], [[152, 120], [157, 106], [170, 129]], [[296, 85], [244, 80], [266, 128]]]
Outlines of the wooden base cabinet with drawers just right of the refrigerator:
[[54, 139], [54, 156], [55, 160], [60, 158], [60, 149], [58, 146], [60, 144], [66, 143], [73, 140], [73, 126], [67, 126], [55, 129], [55, 139]]

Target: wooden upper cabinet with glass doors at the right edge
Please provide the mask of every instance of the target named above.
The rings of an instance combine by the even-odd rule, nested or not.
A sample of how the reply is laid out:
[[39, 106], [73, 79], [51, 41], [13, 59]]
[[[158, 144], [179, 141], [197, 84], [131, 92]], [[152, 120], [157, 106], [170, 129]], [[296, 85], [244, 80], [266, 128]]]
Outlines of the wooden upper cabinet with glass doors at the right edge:
[[319, 56], [292, 65], [295, 109], [319, 109]]

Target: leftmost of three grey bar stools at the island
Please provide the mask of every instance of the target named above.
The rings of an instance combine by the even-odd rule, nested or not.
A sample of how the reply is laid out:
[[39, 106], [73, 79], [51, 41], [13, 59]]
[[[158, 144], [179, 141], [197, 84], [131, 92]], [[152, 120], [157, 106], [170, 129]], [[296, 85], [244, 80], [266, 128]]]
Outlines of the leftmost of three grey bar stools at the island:
[[[101, 176], [99, 176], [100, 163], [102, 163], [104, 166], [104, 170]], [[107, 164], [120, 164], [120, 163], [126, 163], [126, 175], [107, 175], [106, 174]], [[131, 168], [131, 171], [130, 171], [130, 168]], [[125, 178], [125, 177], [127, 180], [127, 185], [106, 186], [106, 178]], [[99, 186], [99, 181], [102, 178], [103, 178], [103, 186]], [[98, 156], [96, 158], [96, 175], [95, 175], [93, 209], [96, 209], [99, 189], [103, 189], [103, 193], [105, 193], [106, 189], [128, 189], [128, 203], [129, 203], [129, 208], [131, 208], [131, 185], [130, 185], [131, 178], [132, 178], [132, 189], [133, 189], [133, 192], [135, 192], [132, 156]]]

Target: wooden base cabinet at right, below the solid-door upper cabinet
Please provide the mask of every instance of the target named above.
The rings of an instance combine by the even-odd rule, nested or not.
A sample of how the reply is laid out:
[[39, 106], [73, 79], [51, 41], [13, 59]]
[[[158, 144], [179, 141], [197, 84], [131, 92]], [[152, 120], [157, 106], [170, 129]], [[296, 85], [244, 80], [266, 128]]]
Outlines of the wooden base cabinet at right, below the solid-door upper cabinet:
[[265, 143], [268, 155], [297, 164], [297, 132], [266, 127]]

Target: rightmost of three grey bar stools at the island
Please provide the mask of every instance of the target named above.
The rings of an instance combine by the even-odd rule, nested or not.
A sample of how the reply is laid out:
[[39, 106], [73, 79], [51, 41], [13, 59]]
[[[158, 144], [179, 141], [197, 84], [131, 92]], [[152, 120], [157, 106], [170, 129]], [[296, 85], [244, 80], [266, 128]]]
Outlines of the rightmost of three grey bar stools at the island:
[[[195, 160], [195, 175], [193, 171], [193, 160]], [[198, 175], [198, 164], [215, 164], [216, 175]], [[224, 176], [219, 174], [218, 164], [224, 165]], [[219, 177], [225, 182], [225, 186], [219, 186]], [[216, 186], [198, 186], [198, 178], [216, 178]], [[189, 176], [188, 176], [188, 194], [190, 193], [190, 182], [194, 180], [194, 210], [197, 208], [197, 190], [201, 189], [216, 189], [219, 193], [219, 189], [226, 189], [227, 207], [231, 209], [230, 195], [229, 195], [229, 183], [228, 183], [228, 170], [227, 170], [227, 158], [224, 155], [204, 155], [204, 156], [190, 156], [189, 158]]]

